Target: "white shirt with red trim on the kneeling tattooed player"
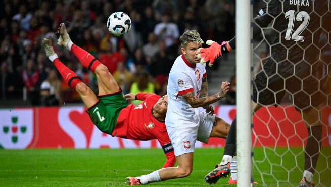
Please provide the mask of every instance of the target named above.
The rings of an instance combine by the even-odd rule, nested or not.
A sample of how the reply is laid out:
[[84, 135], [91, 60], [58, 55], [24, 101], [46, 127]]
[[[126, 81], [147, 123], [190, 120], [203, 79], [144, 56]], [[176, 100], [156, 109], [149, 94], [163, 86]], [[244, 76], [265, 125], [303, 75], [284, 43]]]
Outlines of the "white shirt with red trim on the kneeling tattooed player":
[[182, 97], [183, 94], [194, 91], [199, 98], [202, 77], [206, 76], [206, 64], [192, 65], [183, 55], [177, 57], [169, 74], [167, 94], [168, 110], [165, 119], [166, 126], [196, 125], [199, 117], [194, 108]]

